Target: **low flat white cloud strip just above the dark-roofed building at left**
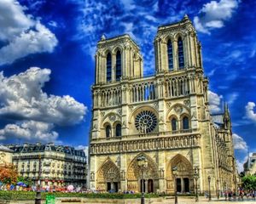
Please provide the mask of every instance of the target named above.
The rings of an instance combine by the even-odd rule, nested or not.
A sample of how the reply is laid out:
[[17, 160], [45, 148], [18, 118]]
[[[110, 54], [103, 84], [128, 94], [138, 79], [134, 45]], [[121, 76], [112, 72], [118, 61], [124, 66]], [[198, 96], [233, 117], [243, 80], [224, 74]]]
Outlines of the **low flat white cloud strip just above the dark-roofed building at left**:
[[51, 123], [34, 121], [8, 124], [0, 130], [0, 137], [50, 142], [58, 137], [58, 133], [52, 131], [53, 127]]

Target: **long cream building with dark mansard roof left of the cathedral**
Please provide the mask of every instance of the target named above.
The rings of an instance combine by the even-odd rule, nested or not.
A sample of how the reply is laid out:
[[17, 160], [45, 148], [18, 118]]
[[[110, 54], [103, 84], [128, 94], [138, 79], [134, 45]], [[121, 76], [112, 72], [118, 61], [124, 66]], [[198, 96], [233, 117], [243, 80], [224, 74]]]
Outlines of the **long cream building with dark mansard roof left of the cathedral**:
[[40, 181], [43, 187], [62, 187], [68, 184], [85, 187], [87, 161], [84, 150], [73, 147], [49, 144], [9, 145], [13, 150], [12, 161], [18, 172], [38, 184], [39, 164]]

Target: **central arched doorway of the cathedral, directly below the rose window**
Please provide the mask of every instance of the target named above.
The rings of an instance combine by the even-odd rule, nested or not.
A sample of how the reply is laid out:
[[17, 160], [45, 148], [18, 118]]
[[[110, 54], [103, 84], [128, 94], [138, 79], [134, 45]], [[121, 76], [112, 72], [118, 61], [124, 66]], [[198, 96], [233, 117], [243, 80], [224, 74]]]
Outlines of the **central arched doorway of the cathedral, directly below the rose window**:
[[[137, 166], [137, 157], [142, 155], [145, 156], [148, 160], [147, 170], [144, 171], [143, 173], [144, 181], [142, 180], [141, 169]], [[156, 190], [159, 188], [159, 178], [157, 169], [157, 164], [150, 156], [147, 156], [144, 153], [137, 155], [131, 161], [127, 170], [127, 190], [142, 192], [143, 186], [144, 192], [149, 192], [149, 190], [150, 192], [156, 192]]]

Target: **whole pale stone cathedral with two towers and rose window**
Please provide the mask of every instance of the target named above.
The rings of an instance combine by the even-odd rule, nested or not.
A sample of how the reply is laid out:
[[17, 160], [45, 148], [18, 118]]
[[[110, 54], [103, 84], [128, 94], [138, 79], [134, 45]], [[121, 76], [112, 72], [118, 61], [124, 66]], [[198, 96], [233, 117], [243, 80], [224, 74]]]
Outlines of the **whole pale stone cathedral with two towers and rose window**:
[[[210, 115], [201, 43], [188, 16], [160, 26], [155, 74], [143, 77], [129, 35], [102, 36], [96, 50], [90, 189], [173, 193], [236, 188], [230, 113]], [[216, 116], [215, 116], [216, 118]], [[148, 167], [143, 171], [138, 158]], [[175, 174], [173, 169], [177, 169]]]

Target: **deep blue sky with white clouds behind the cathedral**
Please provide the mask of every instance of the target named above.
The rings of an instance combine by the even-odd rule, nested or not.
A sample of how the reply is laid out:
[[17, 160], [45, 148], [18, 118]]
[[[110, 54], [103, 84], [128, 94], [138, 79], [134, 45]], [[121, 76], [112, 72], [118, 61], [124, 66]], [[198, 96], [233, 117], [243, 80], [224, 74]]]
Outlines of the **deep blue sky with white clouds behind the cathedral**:
[[129, 33], [154, 74], [157, 26], [194, 23], [212, 113], [229, 103], [239, 167], [256, 152], [255, 1], [0, 1], [0, 143], [84, 146], [96, 42]]

